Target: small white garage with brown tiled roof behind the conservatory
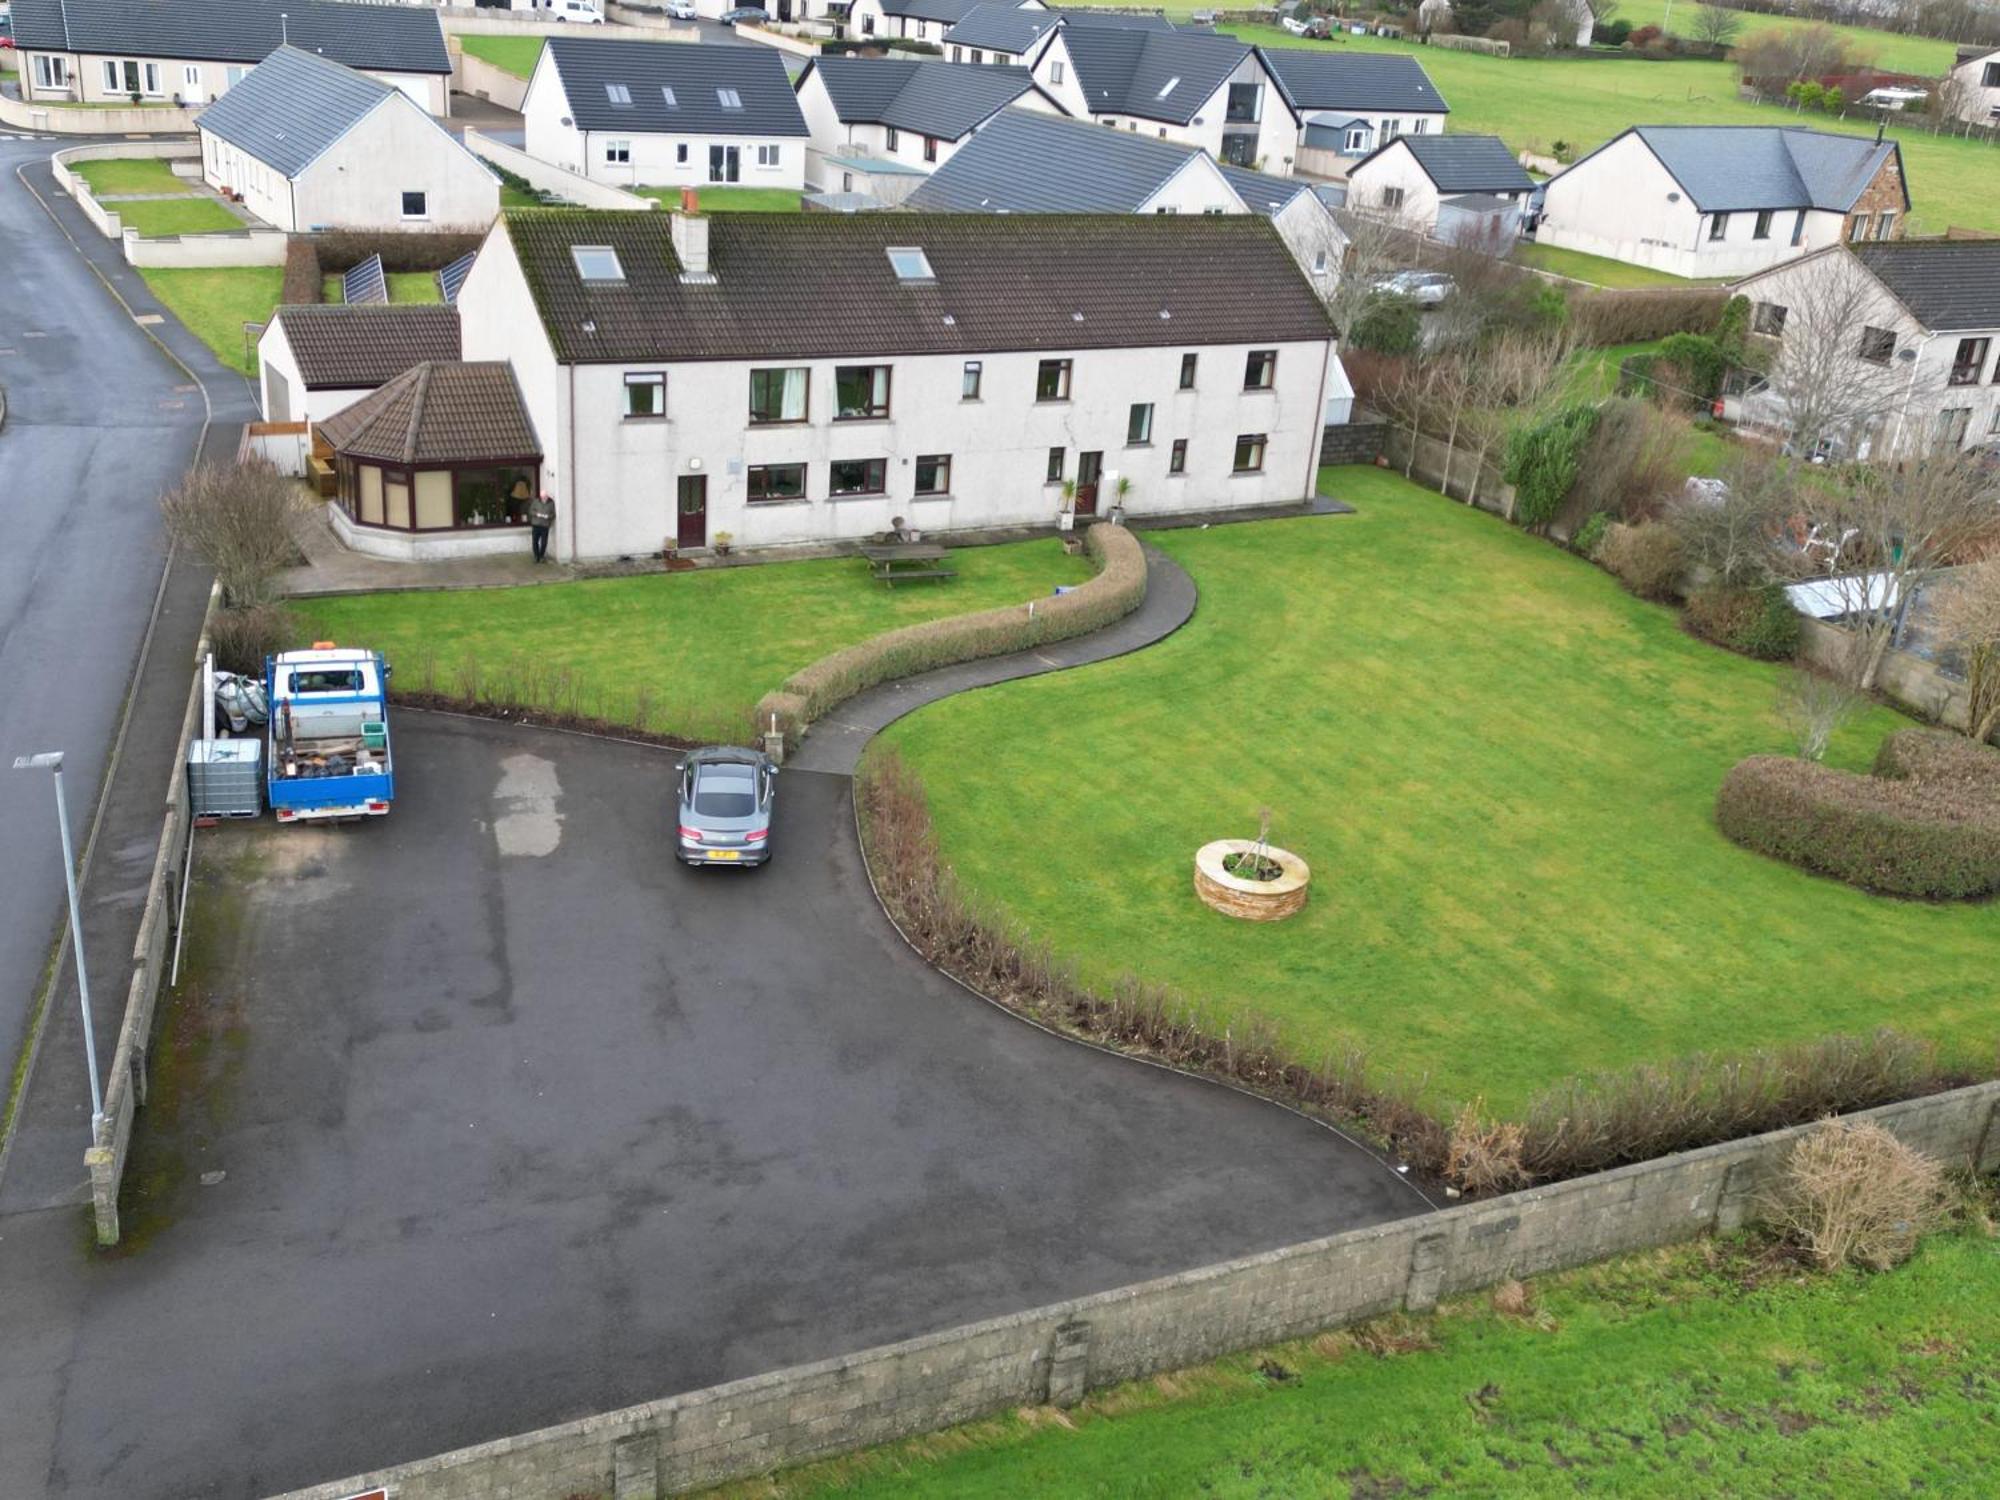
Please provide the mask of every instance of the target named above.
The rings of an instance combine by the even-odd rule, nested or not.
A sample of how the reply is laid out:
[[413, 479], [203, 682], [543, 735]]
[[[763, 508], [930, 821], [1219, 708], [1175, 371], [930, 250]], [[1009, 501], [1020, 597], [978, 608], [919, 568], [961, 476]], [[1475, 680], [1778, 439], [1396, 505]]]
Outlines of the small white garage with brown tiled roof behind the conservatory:
[[344, 302], [278, 308], [256, 342], [266, 422], [324, 422], [404, 370], [458, 358], [458, 310]]

